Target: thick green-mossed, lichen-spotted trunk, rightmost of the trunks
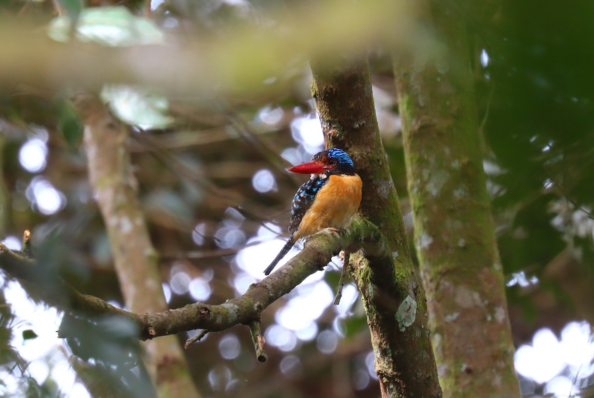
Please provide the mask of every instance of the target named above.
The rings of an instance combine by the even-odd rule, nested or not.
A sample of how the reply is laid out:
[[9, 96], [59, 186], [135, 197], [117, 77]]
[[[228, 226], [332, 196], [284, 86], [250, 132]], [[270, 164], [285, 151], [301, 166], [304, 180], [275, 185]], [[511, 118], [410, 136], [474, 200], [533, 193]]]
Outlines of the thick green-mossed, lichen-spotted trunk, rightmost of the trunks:
[[401, 54], [394, 72], [435, 358], [444, 396], [517, 397], [466, 28], [446, 7], [425, 15], [443, 53]]

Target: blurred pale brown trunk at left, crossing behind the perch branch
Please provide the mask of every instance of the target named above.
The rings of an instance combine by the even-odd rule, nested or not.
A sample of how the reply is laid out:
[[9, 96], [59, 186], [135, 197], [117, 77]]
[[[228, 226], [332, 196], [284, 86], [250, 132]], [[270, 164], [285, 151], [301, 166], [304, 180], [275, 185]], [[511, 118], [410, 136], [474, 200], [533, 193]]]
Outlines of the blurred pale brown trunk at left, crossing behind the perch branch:
[[[158, 256], [138, 201], [125, 148], [127, 130], [95, 97], [80, 95], [75, 107], [84, 120], [89, 179], [109, 235], [126, 306], [133, 313], [168, 309], [158, 272]], [[198, 397], [175, 336], [145, 345], [146, 365], [160, 397]]]

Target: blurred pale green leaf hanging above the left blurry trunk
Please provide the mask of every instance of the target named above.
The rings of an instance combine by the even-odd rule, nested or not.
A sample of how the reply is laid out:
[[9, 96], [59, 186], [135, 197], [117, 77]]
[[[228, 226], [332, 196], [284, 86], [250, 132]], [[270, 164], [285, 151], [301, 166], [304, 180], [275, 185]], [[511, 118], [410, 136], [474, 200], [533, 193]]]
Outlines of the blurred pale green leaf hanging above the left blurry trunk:
[[169, 101], [149, 88], [106, 84], [101, 99], [115, 116], [129, 125], [162, 129], [173, 124], [173, 118], [166, 115]]

